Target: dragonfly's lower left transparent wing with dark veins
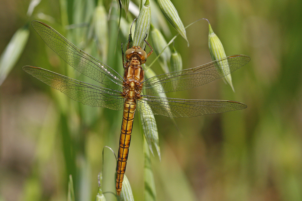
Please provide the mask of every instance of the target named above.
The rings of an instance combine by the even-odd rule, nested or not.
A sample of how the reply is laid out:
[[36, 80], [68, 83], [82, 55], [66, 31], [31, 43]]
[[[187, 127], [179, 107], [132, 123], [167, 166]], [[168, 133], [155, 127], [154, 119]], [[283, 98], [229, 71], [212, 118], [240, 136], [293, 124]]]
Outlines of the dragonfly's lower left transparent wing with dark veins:
[[124, 98], [119, 91], [81, 82], [43, 68], [24, 66], [22, 69], [47, 85], [65, 93], [73, 100], [82, 102], [85, 105], [113, 110], [123, 109]]

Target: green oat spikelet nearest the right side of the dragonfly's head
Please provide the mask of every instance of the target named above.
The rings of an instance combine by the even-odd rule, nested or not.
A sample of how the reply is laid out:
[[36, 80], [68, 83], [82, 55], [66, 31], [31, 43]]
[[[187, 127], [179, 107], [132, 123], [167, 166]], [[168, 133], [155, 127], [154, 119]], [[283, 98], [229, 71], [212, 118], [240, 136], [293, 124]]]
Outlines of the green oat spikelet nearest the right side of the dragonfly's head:
[[169, 47], [167, 46], [167, 42], [164, 38], [164, 36], [162, 35], [162, 33], [160, 33], [160, 31], [154, 27], [152, 27], [151, 30], [151, 40], [152, 40], [152, 44], [153, 44], [153, 50], [156, 53], [156, 55], [159, 55], [159, 64], [162, 67], [162, 70], [165, 73], [169, 73], [169, 66], [170, 66], [170, 59], [171, 59], [171, 50]]

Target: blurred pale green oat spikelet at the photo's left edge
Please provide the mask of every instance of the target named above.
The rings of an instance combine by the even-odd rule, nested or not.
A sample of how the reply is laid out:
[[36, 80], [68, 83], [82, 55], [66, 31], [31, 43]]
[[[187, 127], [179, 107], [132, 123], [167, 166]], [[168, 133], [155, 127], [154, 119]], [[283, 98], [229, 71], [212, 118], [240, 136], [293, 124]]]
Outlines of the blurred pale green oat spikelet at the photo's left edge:
[[0, 86], [19, 60], [29, 36], [28, 28], [20, 28], [14, 33], [0, 56]]

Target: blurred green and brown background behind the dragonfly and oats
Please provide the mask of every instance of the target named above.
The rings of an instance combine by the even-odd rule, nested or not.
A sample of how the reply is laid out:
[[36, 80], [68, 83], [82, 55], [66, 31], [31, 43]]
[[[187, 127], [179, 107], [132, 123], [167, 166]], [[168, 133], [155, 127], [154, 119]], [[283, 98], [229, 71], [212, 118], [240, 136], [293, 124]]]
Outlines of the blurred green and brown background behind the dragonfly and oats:
[[[0, 52], [24, 24], [30, 34], [20, 59], [0, 86], [0, 201], [66, 200], [69, 174], [76, 200], [94, 200], [102, 149], [110, 146], [117, 152], [120, 111], [82, 105], [21, 69], [34, 65], [86, 81], [29, 24], [40, 20], [122, 72], [120, 42], [127, 39], [112, 34], [117, 20], [108, 22], [105, 55], [92, 48], [98, 46], [94, 40], [83, 42], [94, 11], [88, 2], [67, 1], [63, 12], [64, 1], [42, 0], [29, 17], [29, 0], [1, 0]], [[161, 148], [160, 162], [156, 154], [151, 156], [157, 199], [302, 200], [302, 2], [172, 2], [185, 26], [207, 18], [226, 55], [245, 54], [251, 61], [232, 74], [236, 93], [220, 79], [168, 97], [235, 100], [248, 108], [177, 118], [177, 126], [170, 118], [155, 116]], [[111, 1], [103, 3], [108, 13]], [[112, 16], [115, 12], [113, 7]], [[132, 21], [133, 16], [128, 13], [127, 18]], [[75, 25], [72, 29], [62, 28], [67, 20]], [[189, 47], [183, 38], [175, 40], [184, 68], [210, 62], [207, 22], [201, 20], [186, 31]], [[171, 32], [167, 41], [176, 34]], [[154, 58], [155, 54], [147, 63]], [[152, 68], [162, 73], [158, 63]], [[126, 171], [136, 200], [143, 200], [144, 189], [140, 133], [137, 113]], [[103, 191], [114, 192], [115, 159], [108, 149], [105, 156], [109, 165], [103, 174], [107, 179]]]

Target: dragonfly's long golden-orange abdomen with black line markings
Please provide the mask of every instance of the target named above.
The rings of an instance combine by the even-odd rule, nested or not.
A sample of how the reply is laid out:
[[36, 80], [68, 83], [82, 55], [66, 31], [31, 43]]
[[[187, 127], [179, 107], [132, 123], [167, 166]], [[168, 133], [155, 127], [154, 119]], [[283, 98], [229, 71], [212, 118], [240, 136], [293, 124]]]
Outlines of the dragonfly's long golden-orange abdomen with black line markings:
[[123, 110], [122, 128], [120, 131], [120, 146], [117, 156], [117, 168], [116, 168], [116, 191], [117, 195], [120, 195], [122, 190], [122, 182], [124, 180], [124, 174], [126, 171], [128, 152], [131, 140], [132, 125], [136, 109], [135, 99], [126, 99]]

